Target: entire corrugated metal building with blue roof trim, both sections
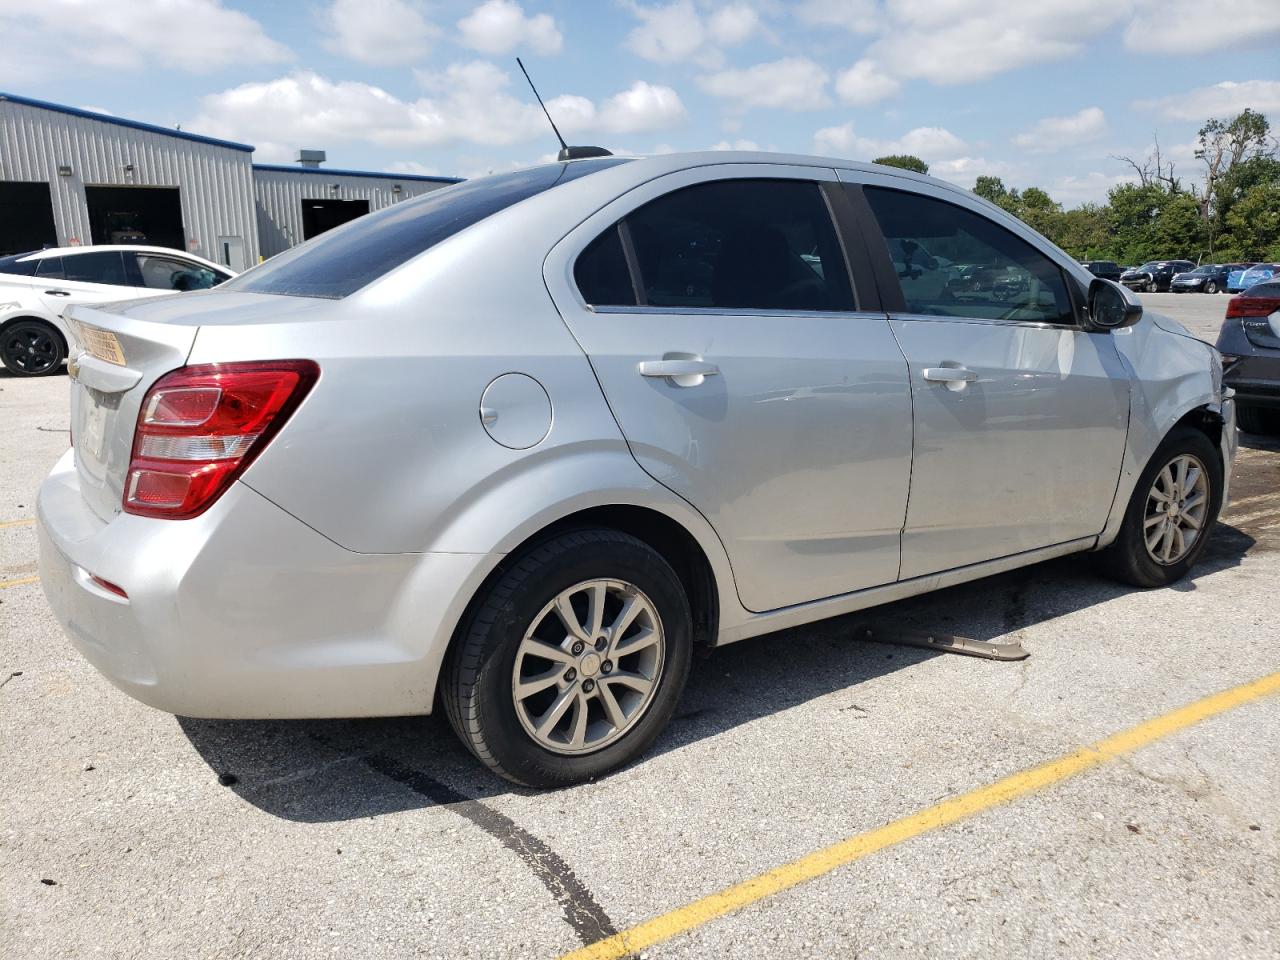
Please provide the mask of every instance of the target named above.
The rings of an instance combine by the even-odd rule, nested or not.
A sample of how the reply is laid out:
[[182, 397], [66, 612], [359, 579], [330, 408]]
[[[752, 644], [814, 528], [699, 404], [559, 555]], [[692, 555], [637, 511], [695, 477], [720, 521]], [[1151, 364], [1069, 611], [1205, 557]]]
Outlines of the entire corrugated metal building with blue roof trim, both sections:
[[253, 147], [0, 93], [0, 256], [154, 243], [244, 270], [361, 214], [457, 180], [255, 165]]

